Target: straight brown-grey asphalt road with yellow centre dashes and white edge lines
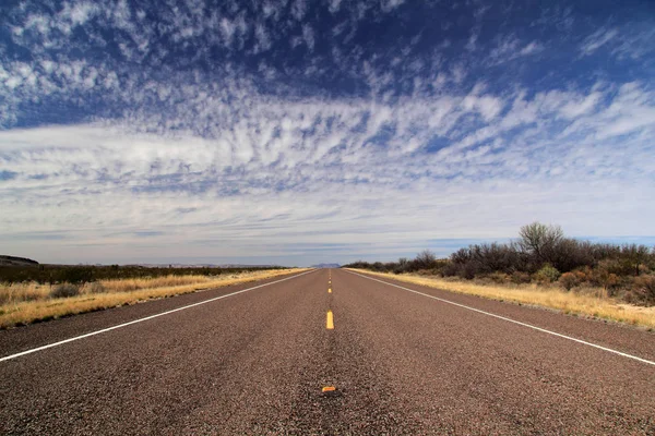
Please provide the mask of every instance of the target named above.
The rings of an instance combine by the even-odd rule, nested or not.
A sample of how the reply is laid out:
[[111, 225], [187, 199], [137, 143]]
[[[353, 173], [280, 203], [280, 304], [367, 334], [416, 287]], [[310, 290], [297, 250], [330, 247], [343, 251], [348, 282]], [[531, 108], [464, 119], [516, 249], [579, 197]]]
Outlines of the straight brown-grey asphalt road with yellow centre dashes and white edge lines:
[[655, 434], [653, 332], [395, 283], [321, 269], [0, 331], [0, 434]]

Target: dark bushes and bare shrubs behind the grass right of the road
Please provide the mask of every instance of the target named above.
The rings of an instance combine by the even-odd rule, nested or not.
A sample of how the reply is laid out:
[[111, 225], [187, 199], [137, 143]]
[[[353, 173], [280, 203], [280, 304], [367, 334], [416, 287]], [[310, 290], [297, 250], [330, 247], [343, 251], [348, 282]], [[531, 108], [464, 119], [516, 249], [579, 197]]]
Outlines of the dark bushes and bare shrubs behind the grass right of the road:
[[610, 296], [655, 305], [655, 249], [567, 238], [559, 226], [533, 222], [510, 243], [473, 244], [449, 258], [430, 251], [397, 262], [355, 262], [344, 267], [380, 272], [418, 272], [498, 283], [552, 283], [563, 289], [603, 287]]

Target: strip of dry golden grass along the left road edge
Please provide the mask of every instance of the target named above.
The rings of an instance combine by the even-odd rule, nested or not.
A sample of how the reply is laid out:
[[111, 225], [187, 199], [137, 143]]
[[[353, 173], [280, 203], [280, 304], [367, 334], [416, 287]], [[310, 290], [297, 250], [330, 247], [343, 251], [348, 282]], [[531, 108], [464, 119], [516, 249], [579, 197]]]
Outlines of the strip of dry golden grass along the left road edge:
[[178, 295], [199, 290], [246, 283], [305, 269], [272, 269], [215, 277], [168, 276], [153, 279], [102, 280], [103, 292], [87, 283], [80, 295], [50, 298], [50, 287], [37, 283], [0, 283], [0, 328], [31, 324], [68, 315], [134, 304], [152, 299]]

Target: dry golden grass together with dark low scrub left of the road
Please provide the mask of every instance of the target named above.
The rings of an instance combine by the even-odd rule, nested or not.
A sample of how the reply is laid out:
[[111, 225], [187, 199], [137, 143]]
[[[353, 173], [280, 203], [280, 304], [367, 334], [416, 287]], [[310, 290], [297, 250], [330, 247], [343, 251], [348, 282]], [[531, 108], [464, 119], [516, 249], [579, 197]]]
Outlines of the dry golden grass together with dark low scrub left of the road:
[[[118, 267], [111, 271], [111, 268], [47, 266], [43, 270], [50, 269], [52, 275], [47, 276], [48, 279], [44, 281], [36, 279], [43, 277], [39, 272], [29, 270], [21, 272], [31, 277], [29, 280], [24, 281], [10, 281], [7, 277], [0, 276], [0, 328], [262, 280], [301, 270]], [[196, 274], [198, 270], [205, 274]], [[210, 274], [210, 270], [213, 274]], [[169, 274], [164, 275], [165, 271]], [[16, 277], [15, 274], [10, 276]], [[126, 278], [120, 278], [121, 276]], [[68, 280], [55, 281], [51, 277], [58, 279], [66, 277]]]

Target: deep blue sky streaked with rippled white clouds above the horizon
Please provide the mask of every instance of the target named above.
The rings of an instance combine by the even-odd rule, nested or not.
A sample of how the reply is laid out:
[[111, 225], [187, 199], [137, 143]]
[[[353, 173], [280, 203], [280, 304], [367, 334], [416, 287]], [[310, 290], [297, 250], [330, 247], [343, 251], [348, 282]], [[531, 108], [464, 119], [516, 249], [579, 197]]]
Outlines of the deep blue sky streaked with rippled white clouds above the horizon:
[[655, 2], [0, 3], [0, 254], [655, 243]]

